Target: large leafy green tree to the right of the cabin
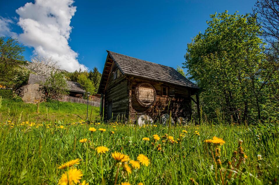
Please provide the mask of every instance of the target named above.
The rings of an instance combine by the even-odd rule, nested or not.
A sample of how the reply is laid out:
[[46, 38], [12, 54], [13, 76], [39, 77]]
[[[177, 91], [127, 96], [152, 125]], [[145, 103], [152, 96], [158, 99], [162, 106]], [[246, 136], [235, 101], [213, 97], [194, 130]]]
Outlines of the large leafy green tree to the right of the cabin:
[[[215, 111], [221, 108], [232, 122], [266, 120], [266, 107], [275, 106], [264, 96], [273, 72], [257, 37], [255, 17], [227, 11], [210, 17], [205, 33], [188, 44], [184, 63], [190, 79], [203, 90], [200, 102], [205, 118], [215, 119]], [[276, 116], [275, 110], [268, 118], [276, 120]]]

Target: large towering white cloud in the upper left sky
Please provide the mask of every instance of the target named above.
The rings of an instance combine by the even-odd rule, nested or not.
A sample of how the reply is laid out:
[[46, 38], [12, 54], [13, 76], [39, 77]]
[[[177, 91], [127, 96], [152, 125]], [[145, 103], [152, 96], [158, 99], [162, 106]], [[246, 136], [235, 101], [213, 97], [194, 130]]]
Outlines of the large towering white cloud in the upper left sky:
[[19, 40], [33, 47], [34, 54], [52, 57], [59, 61], [61, 69], [70, 72], [79, 68], [87, 70], [77, 61], [78, 53], [68, 43], [72, 30], [70, 22], [77, 8], [73, 3], [73, 0], [35, 0], [35, 3], [26, 3], [16, 10], [19, 15], [17, 24], [23, 29], [18, 35]]

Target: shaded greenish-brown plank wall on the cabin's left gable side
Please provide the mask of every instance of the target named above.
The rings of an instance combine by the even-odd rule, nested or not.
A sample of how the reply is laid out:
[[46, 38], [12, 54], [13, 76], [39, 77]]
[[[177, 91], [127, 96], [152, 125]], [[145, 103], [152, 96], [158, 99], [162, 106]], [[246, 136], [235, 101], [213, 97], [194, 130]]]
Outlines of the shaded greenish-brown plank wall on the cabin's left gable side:
[[108, 83], [104, 93], [104, 119], [110, 118], [108, 115], [108, 104], [112, 100], [112, 119], [115, 120], [118, 116], [120, 119], [127, 117], [127, 104], [128, 104], [128, 83], [126, 76], [119, 73], [117, 79], [113, 79], [113, 73], [109, 75]]

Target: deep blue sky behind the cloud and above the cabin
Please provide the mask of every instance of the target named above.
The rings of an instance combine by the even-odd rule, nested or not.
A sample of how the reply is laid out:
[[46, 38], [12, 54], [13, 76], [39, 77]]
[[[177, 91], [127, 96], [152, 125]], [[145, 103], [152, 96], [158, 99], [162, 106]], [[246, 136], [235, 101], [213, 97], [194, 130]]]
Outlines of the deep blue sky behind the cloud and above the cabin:
[[[255, 1], [79, 0], [73, 3], [77, 8], [70, 19], [72, 30], [68, 45], [78, 53], [77, 61], [89, 70], [96, 66], [102, 72], [106, 50], [176, 68], [184, 62], [187, 43], [207, 28], [210, 14], [225, 10], [231, 14], [250, 13]], [[0, 17], [13, 21], [8, 26], [11, 33], [23, 32], [17, 25], [16, 9], [27, 2], [34, 3], [1, 0]], [[33, 42], [26, 41], [29, 47], [24, 56], [29, 61], [34, 50], [32, 45], [37, 44]]]

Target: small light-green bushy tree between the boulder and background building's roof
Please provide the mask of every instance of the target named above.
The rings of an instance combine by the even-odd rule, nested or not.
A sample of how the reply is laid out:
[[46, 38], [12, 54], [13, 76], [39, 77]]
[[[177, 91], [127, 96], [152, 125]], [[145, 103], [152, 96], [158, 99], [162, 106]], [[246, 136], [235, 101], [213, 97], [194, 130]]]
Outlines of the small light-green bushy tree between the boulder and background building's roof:
[[45, 92], [46, 99], [58, 99], [61, 95], [67, 95], [67, 83], [64, 75], [59, 72], [51, 72], [46, 82], [42, 84]]

